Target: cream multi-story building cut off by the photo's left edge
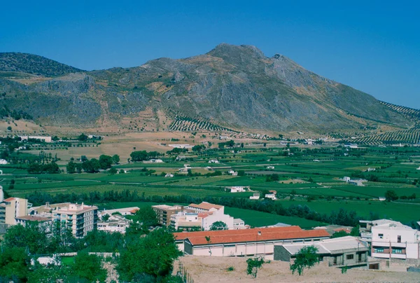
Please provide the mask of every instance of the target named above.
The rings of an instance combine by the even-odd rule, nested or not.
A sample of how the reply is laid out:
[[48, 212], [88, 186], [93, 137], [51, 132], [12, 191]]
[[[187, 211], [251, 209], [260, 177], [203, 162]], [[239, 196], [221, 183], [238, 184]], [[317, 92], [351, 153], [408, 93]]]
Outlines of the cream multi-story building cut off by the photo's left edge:
[[28, 200], [25, 198], [6, 198], [0, 203], [0, 223], [15, 225], [15, 218], [25, 216], [27, 212]]

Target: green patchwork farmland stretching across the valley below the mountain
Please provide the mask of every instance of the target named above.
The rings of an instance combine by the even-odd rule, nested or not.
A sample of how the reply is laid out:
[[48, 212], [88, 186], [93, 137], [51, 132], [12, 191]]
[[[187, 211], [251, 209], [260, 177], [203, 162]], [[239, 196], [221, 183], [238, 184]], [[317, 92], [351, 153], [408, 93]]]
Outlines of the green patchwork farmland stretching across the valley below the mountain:
[[[106, 145], [106, 141], [103, 142]], [[92, 152], [101, 152], [102, 146], [99, 144], [90, 149]], [[78, 147], [71, 149], [77, 152]], [[81, 153], [87, 150], [85, 146], [80, 146], [80, 149]], [[66, 158], [69, 158], [69, 152], [64, 152], [66, 157], [59, 161], [62, 170], [65, 170]], [[30, 153], [38, 151], [25, 152], [26, 155]], [[78, 158], [77, 153], [74, 154], [73, 158]], [[113, 173], [99, 170], [80, 174], [29, 174], [26, 165], [0, 165], [0, 170], [3, 170], [0, 185], [8, 195], [17, 197], [34, 193], [82, 195], [132, 191], [146, 198], [187, 195], [201, 200], [248, 199], [253, 193], [260, 193], [263, 198], [269, 191], [275, 191], [278, 200], [274, 202], [286, 208], [306, 205], [319, 214], [329, 214], [342, 208], [355, 211], [366, 219], [375, 216], [405, 223], [420, 220], [420, 170], [417, 170], [420, 166], [420, 149], [414, 146], [350, 149], [341, 144], [285, 146], [271, 142], [268, 146], [262, 146], [262, 143], [237, 142], [233, 147], [213, 146], [200, 151], [190, 149], [182, 153], [184, 157], [181, 159], [177, 158], [178, 154], [161, 154], [162, 163], [133, 162], [129, 159], [129, 162], [113, 165], [116, 169]], [[57, 156], [60, 158], [59, 153]], [[209, 160], [215, 159], [218, 163], [209, 163]], [[80, 163], [78, 160], [75, 162]], [[188, 172], [179, 172], [184, 166], [188, 167]], [[232, 176], [228, 174], [229, 170], [240, 174]], [[174, 174], [174, 177], [165, 177], [168, 173]], [[362, 180], [361, 186], [343, 181], [344, 177]], [[245, 193], [229, 193], [226, 188], [230, 186], [249, 188]], [[400, 198], [399, 202], [404, 203], [380, 202], [379, 197], [384, 197], [387, 191], [394, 191]], [[139, 206], [139, 202], [137, 205], [112, 203], [111, 207]], [[410, 209], [407, 209], [407, 205]], [[302, 227], [321, 225], [295, 216], [239, 207], [227, 207], [226, 211], [244, 219], [251, 226], [277, 222]]]

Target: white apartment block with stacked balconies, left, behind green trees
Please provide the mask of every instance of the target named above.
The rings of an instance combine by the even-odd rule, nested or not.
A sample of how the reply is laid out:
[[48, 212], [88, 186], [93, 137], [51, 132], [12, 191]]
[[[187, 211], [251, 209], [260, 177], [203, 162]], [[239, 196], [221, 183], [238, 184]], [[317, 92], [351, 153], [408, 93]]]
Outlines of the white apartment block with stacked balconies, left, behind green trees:
[[52, 222], [57, 232], [70, 229], [74, 237], [84, 237], [97, 229], [98, 207], [78, 204], [63, 204], [52, 210]]

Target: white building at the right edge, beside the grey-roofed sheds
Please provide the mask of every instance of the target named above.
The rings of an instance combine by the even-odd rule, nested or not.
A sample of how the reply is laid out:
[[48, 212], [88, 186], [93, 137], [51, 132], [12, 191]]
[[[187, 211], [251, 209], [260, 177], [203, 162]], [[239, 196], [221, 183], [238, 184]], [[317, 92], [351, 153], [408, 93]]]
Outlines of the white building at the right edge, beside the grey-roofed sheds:
[[418, 230], [386, 219], [371, 221], [371, 225], [372, 256], [377, 258], [420, 258]]

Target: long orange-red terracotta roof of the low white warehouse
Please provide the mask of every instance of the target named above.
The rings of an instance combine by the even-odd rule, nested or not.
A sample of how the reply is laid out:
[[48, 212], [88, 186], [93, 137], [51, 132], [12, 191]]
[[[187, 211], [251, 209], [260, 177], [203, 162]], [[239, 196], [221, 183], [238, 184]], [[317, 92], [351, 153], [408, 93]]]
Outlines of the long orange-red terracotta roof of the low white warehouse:
[[[258, 235], [260, 232], [260, 235]], [[291, 240], [312, 237], [330, 237], [325, 230], [302, 230], [299, 226], [253, 228], [244, 230], [221, 230], [174, 233], [176, 240], [186, 240], [193, 245], [207, 244], [206, 236], [211, 238], [211, 244], [232, 242], [255, 242], [269, 240]]]

